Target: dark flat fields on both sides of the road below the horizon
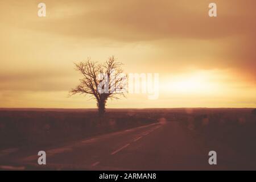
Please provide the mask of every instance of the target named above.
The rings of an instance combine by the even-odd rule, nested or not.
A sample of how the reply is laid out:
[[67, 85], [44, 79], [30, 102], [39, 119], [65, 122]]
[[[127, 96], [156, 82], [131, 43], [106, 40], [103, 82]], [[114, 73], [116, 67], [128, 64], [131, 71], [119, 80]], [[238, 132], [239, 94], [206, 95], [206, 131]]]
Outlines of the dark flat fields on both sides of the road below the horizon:
[[[209, 150], [217, 150], [219, 158], [222, 155], [234, 160], [245, 158], [237, 165], [242, 161], [249, 169], [255, 168], [254, 109], [109, 109], [102, 121], [94, 109], [1, 109], [0, 148], [52, 147], [151, 123], [174, 121], [196, 142], [203, 143]], [[168, 138], [166, 140], [168, 142]], [[223, 161], [225, 163], [225, 159]]]

